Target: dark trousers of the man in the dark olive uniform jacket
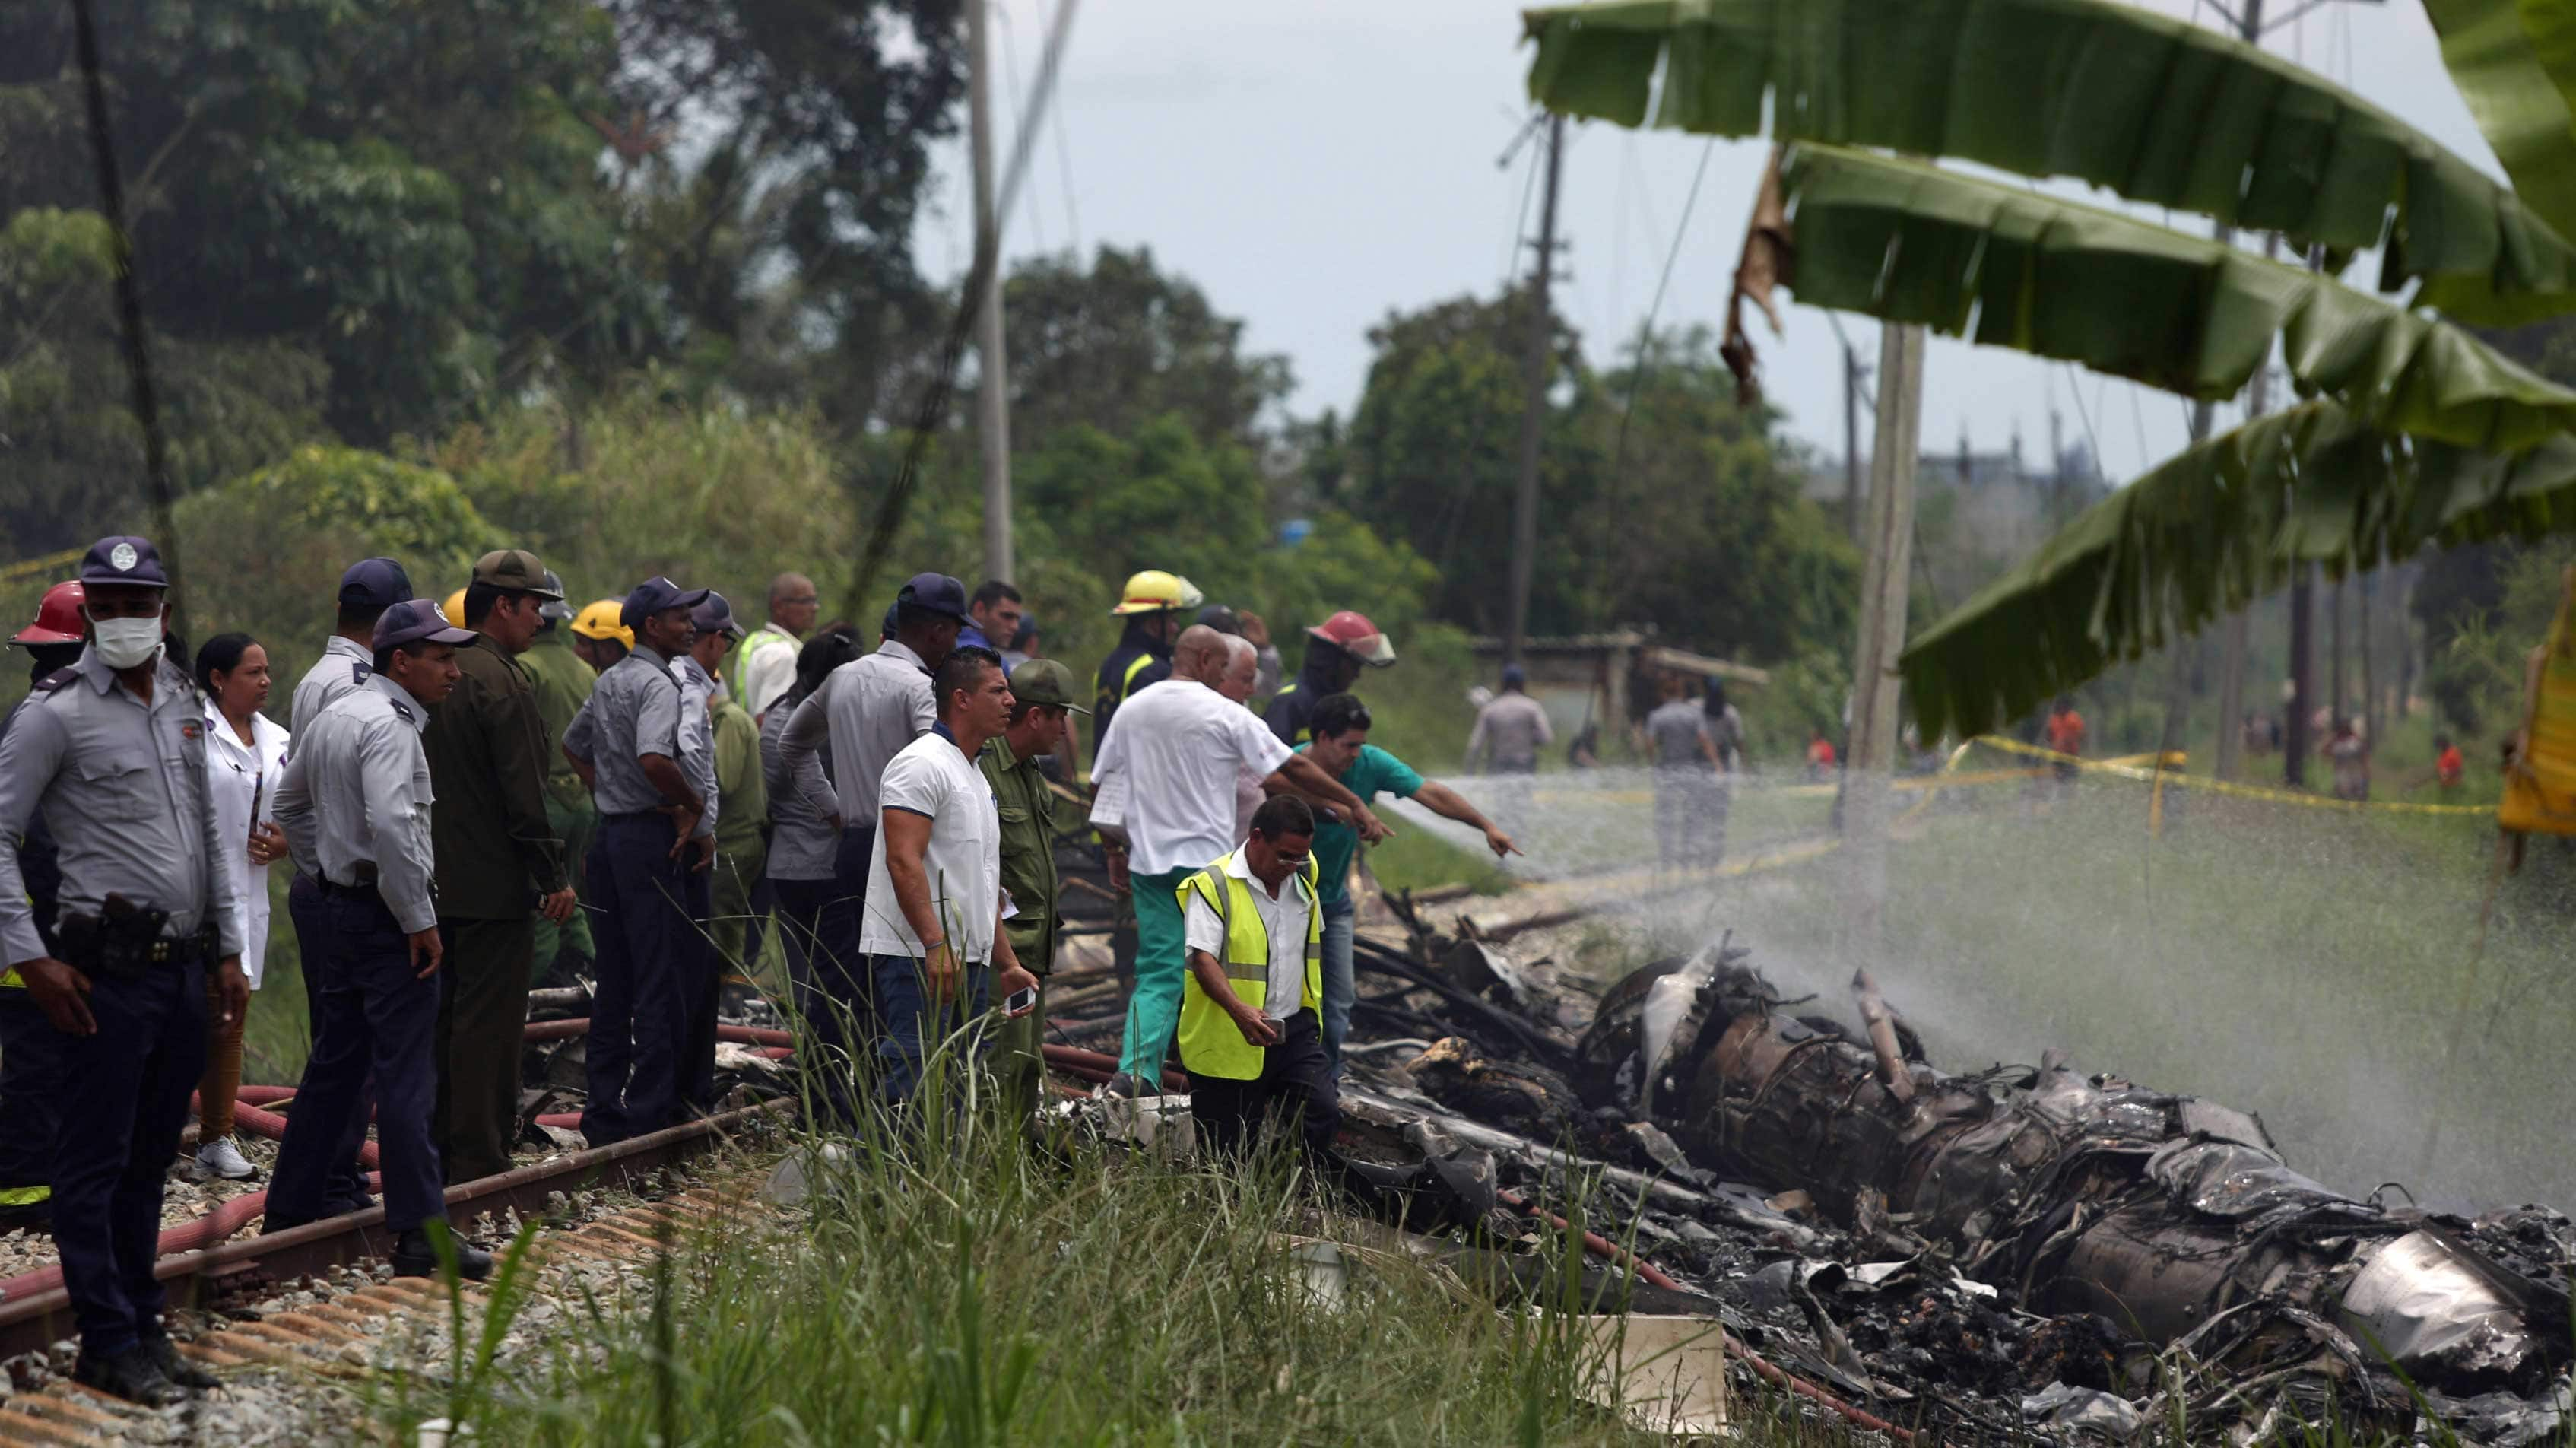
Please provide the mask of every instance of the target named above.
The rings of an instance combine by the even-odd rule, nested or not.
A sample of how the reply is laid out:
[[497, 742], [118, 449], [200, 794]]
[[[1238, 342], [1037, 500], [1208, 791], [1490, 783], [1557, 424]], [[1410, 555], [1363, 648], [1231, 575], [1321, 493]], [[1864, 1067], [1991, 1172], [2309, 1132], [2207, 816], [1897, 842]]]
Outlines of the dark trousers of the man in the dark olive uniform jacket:
[[510, 1170], [518, 1144], [520, 1036], [536, 969], [536, 917], [440, 920], [438, 1165], [451, 1183]]

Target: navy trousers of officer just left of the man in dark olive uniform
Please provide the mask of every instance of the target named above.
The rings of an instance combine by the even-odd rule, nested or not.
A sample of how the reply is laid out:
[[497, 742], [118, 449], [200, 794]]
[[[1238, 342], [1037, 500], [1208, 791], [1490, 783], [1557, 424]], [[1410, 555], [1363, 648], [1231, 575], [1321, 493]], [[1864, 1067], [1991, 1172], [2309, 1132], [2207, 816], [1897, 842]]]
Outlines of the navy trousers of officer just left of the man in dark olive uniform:
[[438, 1136], [430, 1131], [443, 979], [420, 979], [410, 938], [376, 891], [330, 889], [322, 917], [332, 961], [304, 1085], [286, 1113], [278, 1172], [268, 1183], [268, 1229], [327, 1216], [330, 1175], [348, 1162], [350, 1129], [366, 1129], [366, 1082], [374, 1077], [384, 1226], [410, 1232], [448, 1214]]

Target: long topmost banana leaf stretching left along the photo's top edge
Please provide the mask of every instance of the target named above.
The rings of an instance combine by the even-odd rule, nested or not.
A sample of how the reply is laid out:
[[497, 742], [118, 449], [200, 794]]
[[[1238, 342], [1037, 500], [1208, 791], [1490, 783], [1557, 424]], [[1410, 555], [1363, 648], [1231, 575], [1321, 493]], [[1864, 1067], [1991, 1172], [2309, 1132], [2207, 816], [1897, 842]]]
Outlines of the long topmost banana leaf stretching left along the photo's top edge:
[[[2388, 111], [2110, 0], [1613, 0], [1522, 15], [1530, 95], [1623, 126], [2074, 175], [2349, 252], [2473, 325], [2576, 309], [2576, 247]], [[1765, 121], [1767, 116], [1767, 121]]]

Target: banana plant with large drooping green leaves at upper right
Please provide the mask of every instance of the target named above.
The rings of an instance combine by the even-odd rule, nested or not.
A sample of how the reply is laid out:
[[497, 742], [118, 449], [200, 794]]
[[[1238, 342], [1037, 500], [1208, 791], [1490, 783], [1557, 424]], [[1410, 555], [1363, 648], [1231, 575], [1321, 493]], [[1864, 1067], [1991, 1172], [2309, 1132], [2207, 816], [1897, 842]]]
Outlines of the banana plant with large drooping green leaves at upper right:
[[[2486, 3], [2445, 0], [2437, 23], [2445, 5]], [[2009, 719], [2308, 559], [2342, 572], [2432, 538], [2576, 523], [2576, 394], [2419, 312], [2506, 325], [2576, 307], [2576, 216], [2535, 214], [2257, 46], [2089, 0], [1855, 0], [1821, 23], [1788, 0], [1636, 0], [1535, 10], [1528, 26], [1530, 90], [1551, 106], [1641, 124], [1654, 98], [1656, 124], [1705, 134], [1759, 134], [1767, 108], [1798, 142], [1783, 175], [1795, 224], [1757, 247], [1780, 252], [1806, 301], [2202, 399], [2233, 394], [2282, 335], [2293, 376], [2331, 397], [2154, 469], [1917, 639], [1904, 667], [1927, 734]], [[2566, 160], [2576, 142], [2555, 106], [2548, 147]], [[2372, 301], [1850, 147], [2076, 175], [2326, 255], [2385, 240], [2380, 289], [2416, 291]]]

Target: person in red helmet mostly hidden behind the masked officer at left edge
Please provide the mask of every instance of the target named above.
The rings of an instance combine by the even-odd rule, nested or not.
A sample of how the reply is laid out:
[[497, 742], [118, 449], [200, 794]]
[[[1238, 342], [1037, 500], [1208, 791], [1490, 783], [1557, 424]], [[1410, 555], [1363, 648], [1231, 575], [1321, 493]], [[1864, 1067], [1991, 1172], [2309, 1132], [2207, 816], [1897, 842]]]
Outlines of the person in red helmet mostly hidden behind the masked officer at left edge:
[[[26, 706], [49, 693], [44, 683], [80, 662], [82, 613], [80, 580], [44, 590], [36, 618], [18, 629], [10, 644], [26, 649], [28, 696], [0, 719], [0, 739]], [[26, 819], [18, 840], [18, 876], [36, 910], [36, 935], [46, 956], [59, 958], [54, 910], [62, 894], [62, 855], [44, 812]], [[54, 1080], [62, 1064], [62, 1033], [44, 1018], [15, 969], [0, 971], [0, 1232], [44, 1232], [54, 1219]]]

